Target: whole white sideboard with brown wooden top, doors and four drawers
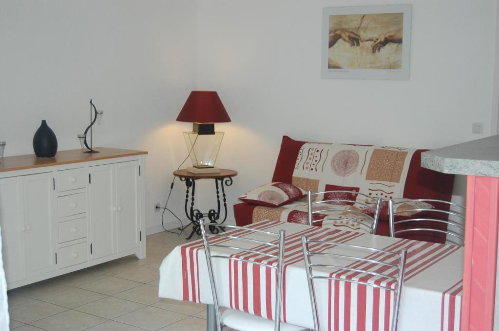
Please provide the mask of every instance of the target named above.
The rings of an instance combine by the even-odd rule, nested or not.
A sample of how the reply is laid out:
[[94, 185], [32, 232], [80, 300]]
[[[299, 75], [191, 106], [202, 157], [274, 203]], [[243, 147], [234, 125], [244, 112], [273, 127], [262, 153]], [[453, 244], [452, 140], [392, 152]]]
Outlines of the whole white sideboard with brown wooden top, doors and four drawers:
[[0, 159], [7, 289], [131, 254], [146, 257], [147, 152], [96, 149]]

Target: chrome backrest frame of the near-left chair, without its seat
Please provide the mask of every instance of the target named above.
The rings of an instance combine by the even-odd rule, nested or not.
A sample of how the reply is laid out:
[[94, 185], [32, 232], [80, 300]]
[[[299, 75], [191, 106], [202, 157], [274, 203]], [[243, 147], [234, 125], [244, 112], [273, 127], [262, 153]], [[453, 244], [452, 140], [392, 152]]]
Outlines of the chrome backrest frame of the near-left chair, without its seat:
[[[199, 221], [201, 233], [203, 236], [203, 245], [205, 248], [206, 262], [208, 264], [208, 273], [210, 275], [210, 284], [213, 293], [213, 303], [215, 305], [215, 313], [217, 317], [217, 331], [222, 331], [222, 323], [220, 318], [219, 297], [217, 291], [216, 275], [213, 268], [214, 259], [228, 259], [241, 262], [256, 264], [264, 268], [275, 269], [276, 287], [275, 287], [275, 311], [274, 311], [274, 331], [280, 329], [280, 311], [282, 303], [282, 278], [283, 278], [283, 260], [284, 260], [284, 238], [285, 231], [279, 230], [279, 233], [257, 230], [249, 227], [225, 225], [225, 228], [239, 230], [237, 232], [224, 232], [224, 233], [207, 233], [206, 227], [213, 225], [205, 223], [203, 220]], [[262, 240], [247, 237], [250, 234], [258, 234], [262, 236]], [[210, 241], [210, 238], [213, 240]], [[231, 241], [224, 241], [230, 239]], [[270, 240], [268, 240], [270, 239]], [[229, 244], [225, 244], [225, 243]], [[239, 244], [252, 243], [257, 245], [256, 248], [238, 247]], [[244, 246], [244, 244], [243, 244]], [[261, 248], [263, 247], [263, 248]], [[212, 251], [212, 248], [221, 249], [222, 252]], [[240, 256], [241, 254], [250, 253], [252, 256], [267, 258], [266, 261], [260, 262], [258, 258], [250, 259], [249, 257], [235, 257], [234, 254]], [[227, 254], [227, 255], [226, 255]], [[246, 255], [248, 256], [248, 254]]]

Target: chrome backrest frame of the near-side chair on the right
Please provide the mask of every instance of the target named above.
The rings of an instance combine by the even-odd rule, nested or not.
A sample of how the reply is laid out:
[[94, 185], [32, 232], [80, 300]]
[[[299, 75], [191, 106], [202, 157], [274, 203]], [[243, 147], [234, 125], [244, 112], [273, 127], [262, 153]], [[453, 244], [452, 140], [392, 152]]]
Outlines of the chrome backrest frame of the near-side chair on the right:
[[[305, 261], [305, 270], [307, 274], [310, 302], [312, 304], [315, 331], [321, 331], [321, 317], [319, 316], [319, 303], [317, 302], [317, 288], [315, 284], [317, 280], [348, 282], [393, 292], [395, 294], [395, 302], [392, 313], [393, 315], [391, 317], [392, 327], [390, 330], [397, 330], [400, 295], [402, 293], [402, 284], [404, 282], [404, 271], [407, 258], [406, 248], [403, 248], [398, 252], [392, 252], [335, 241], [309, 240], [306, 236], [301, 237], [301, 245]], [[341, 248], [344, 249], [340, 250]], [[348, 252], [351, 252], [352, 250], [364, 252], [364, 256], [366, 257], [349, 255]], [[375, 257], [372, 257], [373, 255], [369, 255], [372, 253], [383, 254], [383, 256], [385, 256], [385, 260], [377, 260], [376, 256], [381, 256], [381, 254], [377, 254], [374, 255]], [[316, 261], [316, 259], [318, 261]], [[342, 266], [342, 263], [340, 263], [342, 260], [350, 260], [358, 263], [350, 263], [345, 264], [347, 266]], [[393, 275], [394, 272], [396, 272], [395, 275]], [[369, 275], [372, 277], [379, 277], [378, 280], [380, 281], [368, 282], [366, 280], [366, 276]], [[388, 282], [391, 285], [388, 285], [388, 283], [385, 283], [386, 286], [381, 285], [381, 280]], [[324, 302], [323, 304], [327, 305], [328, 302]]]

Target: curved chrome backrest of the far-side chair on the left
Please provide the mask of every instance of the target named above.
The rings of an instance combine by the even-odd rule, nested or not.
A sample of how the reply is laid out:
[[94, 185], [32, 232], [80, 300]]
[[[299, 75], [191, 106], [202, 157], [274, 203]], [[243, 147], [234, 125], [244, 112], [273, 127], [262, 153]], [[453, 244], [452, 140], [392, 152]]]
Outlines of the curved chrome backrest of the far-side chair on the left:
[[[362, 196], [365, 199], [359, 199], [358, 196]], [[369, 233], [376, 233], [381, 212], [381, 198], [373, 198], [366, 194], [353, 191], [336, 190], [318, 193], [308, 191], [307, 202], [308, 225], [313, 225], [314, 223], [322, 221], [352, 221], [359, 223], [360, 226], [364, 227]], [[345, 210], [345, 205], [356, 205], [360, 208]], [[314, 206], [317, 208], [314, 208]], [[362, 210], [362, 208], [371, 211], [373, 216], [365, 213], [365, 209]], [[325, 213], [327, 216], [320, 220], [314, 220], [314, 214], [319, 213]], [[357, 217], [354, 219], [353, 217], [355, 216]]]

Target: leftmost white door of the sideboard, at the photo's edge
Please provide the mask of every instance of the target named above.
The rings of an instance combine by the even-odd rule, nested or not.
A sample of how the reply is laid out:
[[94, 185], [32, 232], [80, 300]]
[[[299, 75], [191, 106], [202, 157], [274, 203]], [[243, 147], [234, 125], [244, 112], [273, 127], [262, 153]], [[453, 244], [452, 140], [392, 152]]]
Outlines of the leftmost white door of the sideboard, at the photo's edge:
[[22, 177], [0, 179], [0, 229], [7, 283], [26, 278]]

